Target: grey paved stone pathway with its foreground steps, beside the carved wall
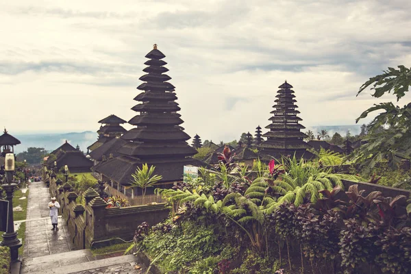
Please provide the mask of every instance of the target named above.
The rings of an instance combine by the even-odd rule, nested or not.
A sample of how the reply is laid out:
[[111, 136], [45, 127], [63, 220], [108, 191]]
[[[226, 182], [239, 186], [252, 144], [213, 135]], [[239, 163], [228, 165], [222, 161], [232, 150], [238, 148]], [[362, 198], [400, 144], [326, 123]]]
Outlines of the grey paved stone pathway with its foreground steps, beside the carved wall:
[[[21, 272], [29, 274], [140, 274], [144, 268], [133, 255], [95, 260], [89, 249], [74, 250], [69, 230], [59, 217], [58, 232], [51, 231], [47, 204], [49, 190], [32, 182], [27, 201], [25, 247]], [[16, 222], [17, 223], [17, 222]], [[138, 266], [137, 268], [135, 266]]]

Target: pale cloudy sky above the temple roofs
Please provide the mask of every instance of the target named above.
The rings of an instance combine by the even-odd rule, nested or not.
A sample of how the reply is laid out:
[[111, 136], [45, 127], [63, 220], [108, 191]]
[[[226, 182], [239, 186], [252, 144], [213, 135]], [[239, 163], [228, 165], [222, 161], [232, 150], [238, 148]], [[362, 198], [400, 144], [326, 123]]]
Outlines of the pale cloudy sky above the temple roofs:
[[5, 0], [1, 126], [82, 132], [110, 114], [128, 121], [154, 43], [190, 136], [232, 140], [267, 125], [285, 79], [303, 125], [352, 125], [393, 98], [356, 97], [361, 84], [411, 66], [410, 12], [409, 0]]

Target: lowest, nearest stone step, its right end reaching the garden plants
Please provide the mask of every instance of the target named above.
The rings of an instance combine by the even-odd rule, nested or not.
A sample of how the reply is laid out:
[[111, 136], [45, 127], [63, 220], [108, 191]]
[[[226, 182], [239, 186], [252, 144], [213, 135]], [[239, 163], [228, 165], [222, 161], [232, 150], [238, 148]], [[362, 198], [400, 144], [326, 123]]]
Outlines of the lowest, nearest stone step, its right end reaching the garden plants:
[[[84, 249], [88, 250], [88, 249]], [[89, 251], [89, 250], [88, 250]], [[72, 251], [74, 252], [74, 251]], [[89, 251], [90, 252], [90, 251]], [[55, 256], [60, 256], [65, 258], [66, 254], [71, 253], [60, 253], [55, 254]], [[51, 255], [54, 256], [54, 255]], [[49, 256], [45, 256], [49, 257]], [[64, 260], [63, 260], [64, 261]], [[120, 257], [113, 257], [104, 260], [90, 260], [89, 262], [75, 262], [73, 260], [70, 264], [64, 264], [59, 266], [58, 264], [49, 265], [44, 269], [38, 269], [36, 271], [29, 271], [30, 274], [69, 274], [69, 273], [77, 273], [80, 271], [92, 271], [93, 269], [101, 269], [106, 268], [108, 266], [119, 266], [119, 270], [121, 270], [121, 264], [130, 263], [134, 264], [136, 262], [136, 257], [134, 255], [127, 255], [127, 256], [120, 256]]]

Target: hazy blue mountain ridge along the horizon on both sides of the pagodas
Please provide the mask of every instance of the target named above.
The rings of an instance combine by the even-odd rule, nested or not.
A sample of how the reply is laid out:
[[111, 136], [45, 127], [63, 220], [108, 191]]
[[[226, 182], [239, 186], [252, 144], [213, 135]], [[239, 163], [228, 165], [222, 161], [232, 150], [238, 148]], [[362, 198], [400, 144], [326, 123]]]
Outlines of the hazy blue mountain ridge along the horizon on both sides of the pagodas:
[[[303, 129], [302, 132], [306, 132], [310, 129], [314, 132], [314, 135], [317, 135], [318, 132], [321, 132], [321, 129], [325, 129], [330, 137], [335, 132], [345, 136], [348, 130], [352, 135], [360, 134], [360, 127], [361, 125], [317, 125], [307, 127], [306, 129]], [[21, 145], [15, 147], [16, 153], [26, 151], [28, 147], [45, 147], [47, 151], [51, 152], [60, 147], [66, 140], [73, 145], [73, 147], [79, 145], [80, 149], [86, 152], [87, 147], [95, 142], [98, 137], [96, 132], [90, 131], [56, 134], [16, 134], [14, 136], [21, 141]], [[225, 142], [229, 141], [231, 140], [225, 140]], [[189, 141], [189, 143], [191, 142]]]

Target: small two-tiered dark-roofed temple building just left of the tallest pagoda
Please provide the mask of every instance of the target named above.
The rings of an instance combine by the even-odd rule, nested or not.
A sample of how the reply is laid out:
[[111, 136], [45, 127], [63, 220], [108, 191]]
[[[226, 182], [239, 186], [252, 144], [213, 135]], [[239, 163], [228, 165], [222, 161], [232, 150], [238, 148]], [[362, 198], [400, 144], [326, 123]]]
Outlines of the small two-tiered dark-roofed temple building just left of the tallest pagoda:
[[105, 142], [108, 142], [114, 138], [120, 138], [124, 132], [127, 132], [127, 130], [121, 126], [121, 124], [127, 122], [114, 114], [105, 117], [105, 119], [100, 120], [99, 123], [101, 123], [100, 129], [97, 131], [99, 137], [96, 142], [87, 147], [89, 151], [93, 151], [98, 147], [101, 147], [101, 145]]

